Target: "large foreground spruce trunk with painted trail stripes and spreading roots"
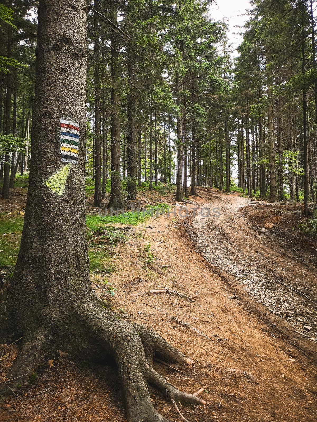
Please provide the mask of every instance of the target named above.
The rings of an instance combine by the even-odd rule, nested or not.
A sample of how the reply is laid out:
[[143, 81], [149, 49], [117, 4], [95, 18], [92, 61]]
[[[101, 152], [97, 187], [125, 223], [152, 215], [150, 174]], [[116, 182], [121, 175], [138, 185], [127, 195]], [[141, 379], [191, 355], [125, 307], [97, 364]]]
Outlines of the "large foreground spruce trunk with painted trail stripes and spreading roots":
[[152, 330], [102, 307], [90, 287], [85, 227], [86, 31], [85, 0], [39, 1], [30, 184], [14, 278], [0, 295], [0, 343], [20, 337], [22, 341], [0, 395], [21, 390], [52, 349], [99, 362], [111, 357], [128, 421], [168, 422], [153, 407], [147, 384], [164, 391], [172, 403], [205, 402], [161, 377], [151, 366], [153, 355], [166, 362], [193, 361]]

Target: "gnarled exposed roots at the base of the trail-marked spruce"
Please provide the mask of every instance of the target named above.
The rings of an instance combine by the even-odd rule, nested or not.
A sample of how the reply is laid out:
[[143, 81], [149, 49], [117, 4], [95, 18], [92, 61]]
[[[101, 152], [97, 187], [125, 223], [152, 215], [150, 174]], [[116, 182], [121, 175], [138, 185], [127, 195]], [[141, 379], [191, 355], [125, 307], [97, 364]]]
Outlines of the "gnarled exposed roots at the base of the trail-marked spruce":
[[[95, 303], [90, 303], [90, 306], [85, 303], [78, 317], [82, 329], [72, 336], [73, 354], [75, 357], [78, 356], [78, 350], [83, 348], [89, 338], [91, 343], [95, 342], [92, 345], [91, 354], [98, 348], [99, 354], [110, 355], [114, 358], [122, 384], [126, 416], [129, 422], [168, 422], [153, 407], [148, 384], [163, 392], [180, 415], [178, 403], [205, 404], [204, 400], [195, 395], [176, 389], [153, 369], [154, 356], [169, 363], [193, 363], [155, 331], [138, 323], [118, 319], [109, 310], [99, 308]], [[67, 324], [61, 324], [58, 328], [51, 327], [51, 330], [62, 329], [61, 335], [65, 336], [66, 327]], [[57, 335], [56, 338], [58, 337]], [[18, 356], [9, 373], [9, 379], [5, 381], [0, 394], [16, 393], [19, 388], [25, 386], [44, 356], [44, 348], [60, 347], [52, 343], [51, 338], [48, 344], [45, 330], [24, 335], [19, 344]], [[182, 415], [181, 417], [186, 421]]]

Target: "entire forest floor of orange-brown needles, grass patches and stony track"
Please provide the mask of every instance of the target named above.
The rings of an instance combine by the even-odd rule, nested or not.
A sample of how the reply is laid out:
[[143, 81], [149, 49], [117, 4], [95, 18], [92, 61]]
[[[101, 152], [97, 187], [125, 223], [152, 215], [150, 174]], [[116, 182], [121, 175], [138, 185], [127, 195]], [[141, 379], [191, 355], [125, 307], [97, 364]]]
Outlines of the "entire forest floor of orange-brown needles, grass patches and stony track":
[[[17, 184], [11, 200], [0, 200], [5, 272], [14, 266], [23, 226], [27, 179]], [[87, 180], [91, 281], [104, 306], [153, 327], [194, 360], [191, 368], [156, 362], [175, 387], [204, 388], [206, 406], [181, 408], [189, 421], [314, 421], [316, 241], [302, 206], [210, 188], [199, 188], [193, 204], [175, 204], [175, 187], [147, 189], [137, 206], [175, 206], [176, 216], [99, 215]], [[181, 207], [188, 217], [179, 216], [186, 214]], [[1, 379], [15, 353], [15, 346], [5, 349]], [[152, 398], [161, 414], [180, 420], [164, 396]], [[1, 421], [126, 420], [115, 368], [55, 351], [27, 390], [2, 406]]]

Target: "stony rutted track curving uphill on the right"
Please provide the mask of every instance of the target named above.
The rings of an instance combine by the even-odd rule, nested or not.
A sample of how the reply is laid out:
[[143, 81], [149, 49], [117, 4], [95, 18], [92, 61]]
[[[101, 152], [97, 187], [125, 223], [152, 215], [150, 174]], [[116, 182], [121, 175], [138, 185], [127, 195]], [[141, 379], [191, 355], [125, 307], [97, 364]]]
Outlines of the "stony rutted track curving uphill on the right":
[[316, 344], [317, 271], [312, 260], [308, 264], [290, 248], [286, 251], [269, 230], [254, 227], [243, 216], [243, 207], [258, 202], [216, 189], [200, 188], [198, 193], [199, 207], [210, 209], [210, 216], [198, 210], [193, 218], [190, 235], [199, 252], [233, 276], [254, 301], [289, 322], [295, 334]]

